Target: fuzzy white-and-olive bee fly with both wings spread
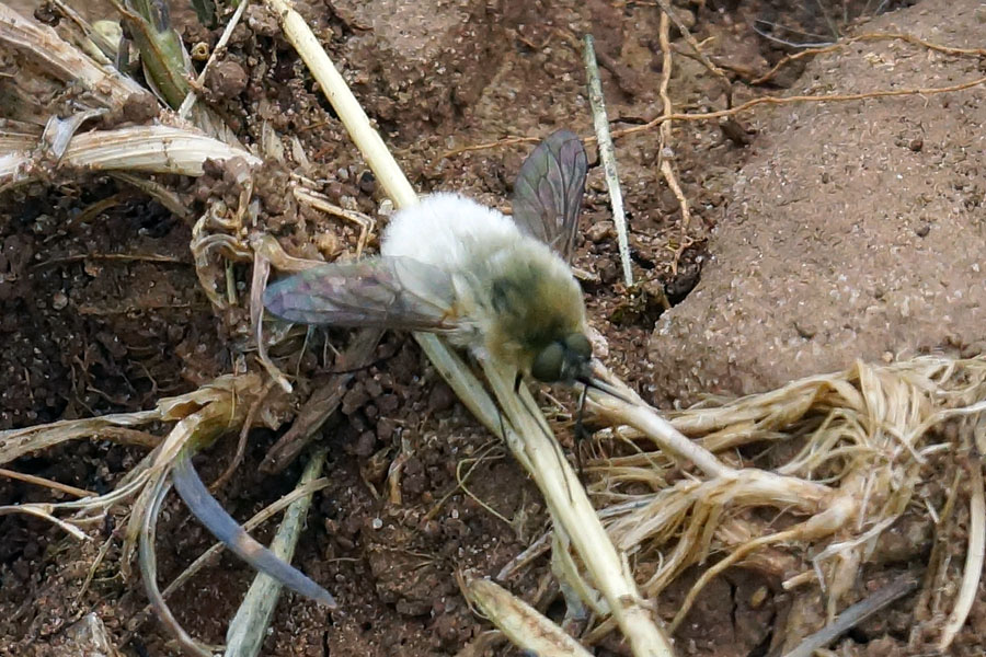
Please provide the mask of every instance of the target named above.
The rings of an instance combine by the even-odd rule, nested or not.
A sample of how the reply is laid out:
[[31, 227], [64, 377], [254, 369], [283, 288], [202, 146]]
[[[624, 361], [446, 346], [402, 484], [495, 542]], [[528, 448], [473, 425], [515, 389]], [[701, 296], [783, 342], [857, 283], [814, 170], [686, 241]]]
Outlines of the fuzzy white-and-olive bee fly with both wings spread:
[[398, 211], [379, 257], [270, 286], [264, 306], [306, 324], [442, 333], [547, 383], [609, 391], [591, 373], [585, 303], [569, 263], [585, 191], [578, 137], [552, 134], [527, 158], [513, 217], [457, 194]]

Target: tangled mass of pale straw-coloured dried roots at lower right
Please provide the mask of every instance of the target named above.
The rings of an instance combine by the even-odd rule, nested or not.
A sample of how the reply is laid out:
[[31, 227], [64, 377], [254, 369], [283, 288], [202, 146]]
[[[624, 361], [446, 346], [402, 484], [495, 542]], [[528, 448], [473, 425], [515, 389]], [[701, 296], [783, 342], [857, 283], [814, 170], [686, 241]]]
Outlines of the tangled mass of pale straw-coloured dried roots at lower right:
[[[599, 401], [601, 413], [633, 425], [607, 430], [601, 438], [630, 441], [638, 450], [593, 461], [589, 469], [597, 479], [591, 491], [603, 505], [600, 515], [617, 545], [635, 554], [639, 563], [656, 563], [642, 586], [647, 596], [658, 595], [686, 567], [718, 557], [689, 591], [673, 627], [684, 620], [701, 588], [727, 567], [769, 564], [756, 556], [768, 546], [804, 564], [800, 573], [782, 568], [775, 575], [792, 588], [817, 579], [834, 618], [852, 596], [860, 568], [873, 556], [881, 533], [912, 507], [930, 459], [959, 452], [962, 443], [971, 442], [977, 425], [960, 423], [958, 445], [937, 427], [954, 418], [977, 417], [986, 410], [983, 400], [986, 358], [925, 357], [881, 367], [860, 362], [778, 391], [712, 400], [670, 414], [673, 428], [662, 427], [663, 433], [641, 422], [639, 410], [634, 414], [610, 400]], [[736, 448], [750, 445], [769, 450], [780, 441], [796, 441], [801, 448], [771, 471], [710, 465], [710, 459], [718, 462], [713, 452], [734, 456]], [[651, 442], [661, 450], [649, 451]], [[686, 460], [681, 458], [686, 443], [710, 450], [696, 451], [692, 460]], [[680, 473], [695, 466], [708, 479], [681, 479]], [[667, 485], [669, 480], [678, 482]], [[981, 497], [982, 485], [974, 485], [972, 517], [982, 521]], [[784, 517], [796, 522], [771, 531], [752, 521], [747, 511], [765, 506], [777, 509], [778, 522]], [[982, 541], [982, 533], [972, 530], [973, 541]], [[970, 555], [975, 555], [977, 543], [970, 548]], [[982, 562], [970, 558], [967, 579], [978, 583]], [[968, 593], [960, 593], [956, 619], [964, 621], [970, 602]], [[947, 634], [942, 643], [948, 641]]]

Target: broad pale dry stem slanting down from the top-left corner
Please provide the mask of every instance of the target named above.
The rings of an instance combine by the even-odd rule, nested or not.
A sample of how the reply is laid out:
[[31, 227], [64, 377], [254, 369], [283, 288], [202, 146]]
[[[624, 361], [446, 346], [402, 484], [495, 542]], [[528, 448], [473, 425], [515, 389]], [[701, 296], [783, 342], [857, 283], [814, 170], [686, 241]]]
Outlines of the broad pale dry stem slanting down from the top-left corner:
[[78, 84], [105, 107], [121, 106], [130, 94], [145, 93], [134, 80], [96, 65], [54, 30], [23, 18], [7, 3], [0, 3], [0, 43], [30, 53], [47, 73]]

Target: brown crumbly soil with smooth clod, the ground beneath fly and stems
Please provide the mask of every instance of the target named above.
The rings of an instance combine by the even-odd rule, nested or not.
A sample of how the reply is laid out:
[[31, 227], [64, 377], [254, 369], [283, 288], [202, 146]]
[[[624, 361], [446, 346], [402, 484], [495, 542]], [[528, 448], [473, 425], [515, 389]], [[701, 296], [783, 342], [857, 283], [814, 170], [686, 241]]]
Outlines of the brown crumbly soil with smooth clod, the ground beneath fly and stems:
[[[343, 0], [310, 2], [302, 11], [416, 188], [462, 191], [502, 206], [529, 146], [448, 153], [563, 126], [591, 134], [581, 51], [565, 35], [592, 28], [617, 127], [661, 111], [657, 8], [605, 0], [589, 0], [577, 10], [574, 4], [467, 1], [425, 7], [404, 0]], [[753, 32], [750, 23], [766, 19], [824, 33], [824, 19], [811, 9], [817, 3], [796, 3], [794, 9], [767, 0], [679, 4], [699, 41], [714, 37], [708, 51], [729, 65], [737, 103], [765, 91], [779, 93], [780, 85], [849, 93], [892, 84], [942, 85], [977, 74], [975, 59], [878, 44], [819, 58], [800, 80], [802, 66], [794, 66], [776, 80], [777, 87], [752, 88], [744, 79], [765, 72], [783, 50]], [[863, 4], [848, 3], [850, 15]], [[175, 15], [190, 45], [217, 38], [194, 16]], [[929, 39], [973, 46], [981, 21], [974, 1], [925, 0], [852, 30], [897, 25]], [[676, 44], [687, 49], [680, 39]], [[273, 148], [273, 135], [290, 158], [297, 138], [310, 161], [301, 173], [325, 181], [325, 193], [340, 205], [376, 216], [382, 193], [280, 37], [276, 20], [262, 7], [248, 10], [227, 62], [211, 80], [210, 101], [243, 140]], [[725, 102], [718, 81], [680, 56], [669, 91], [681, 112], [718, 110]], [[683, 226], [677, 200], [656, 169], [657, 132], [618, 141], [634, 274], [644, 288], [666, 290], [679, 303], [664, 316], [654, 304], [628, 307], [623, 301], [601, 166], [591, 149], [585, 239], [575, 264], [596, 276], [585, 289], [592, 321], [608, 343], [608, 365], [645, 396], [667, 404], [700, 391], [768, 388], [857, 356], [880, 358], [884, 351], [984, 339], [982, 279], [973, 275], [977, 263], [986, 266], [983, 192], [976, 182], [984, 152], [979, 128], [986, 123], [982, 101], [979, 89], [927, 101], [763, 110], [740, 117], [741, 132], [748, 134], [734, 132], [735, 140], [714, 123], [677, 127], [669, 146], [693, 211], [686, 230], [695, 245], [684, 251], [676, 268]], [[846, 126], [855, 126], [852, 138], [837, 140], [834, 135], [848, 130]], [[837, 148], [826, 150], [830, 143]], [[874, 145], [882, 150], [874, 151]], [[880, 162], [880, 171], [868, 175], [868, 162]], [[203, 199], [226, 192], [218, 176], [162, 182], [196, 210]], [[317, 257], [355, 246], [356, 227], [290, 206], [284, 199], [285, 183], [284, 168], [272, 168], [256, 195], [270, 230], [291, 253]], [[106, 199], [114, 203], [87, 212]], [[951, 207], [956, 211], [949, 212]], [[325, 233], [334, 235], [333, 243], [318, 238]], [[860, 234], [867, 242], [857, 239]], [[245, 313], [214, 314], [191, 266], [190, 235], [187, 222], [106, 178], [34, 185], [2, 196], [0, 428], [147, 408], [161, 396], [232, 371], [245, 347]], [[846, 249], [836, 252], [833, 244]], [[872, 244], [894, 245], [907, 266], [868, 255]], [[119, 254], [134, 257], [106, 257]], [[756, 274], [752, 263], [759, 267]], [[851, 278], [860, 270], [856, 263], [870, 267], [869, 274]], [[839, 280], [840, 275], [846, 279]], [[249, 283], [249, 272], [238, 270], [237, 277]], [[792, 279], [799, 281], [796, 296], [788, 296]], [[916, 299], [907, 318], [894, 314], [903, 303], [895, 295], [905, 299], [929, 281], [940, 281], [941, 289]], [[830, 293], [847, 286], [876, 299], [882, 314], [873, 319], [872, 303], [853, 297], [845, 304]], [[943, 308], [955, 302], [955, 290], [963, 290], [963, 306], [954, 307], [945, 322]], [[758, 308], [778, 308], [786, 298], [792, 306], [807, 306], [798, 314], [784, 309], [783, 321], [757, 314]], [[798, 319], [802, 315], [804, 323]], [[838, 322], [846, 326], [833, 327]], [[885, 324], [893, 331], [885, 331]], [[310, 380], [307, 388], [302, 384], [302, 395], [330, 376], [333, 364], [322, 355], [344, 343], [344, 333], [312, 337], [297, 365]], [[771, 350], [775, 344], [778, 350]], [[378, 356], [377, 365], [357, 373], [341, 413], [323, 430], [332, 485], [317, 495], [294, 562], [332, 590], [341, 611], [330, 618], [313, 603], [285, 595], [265, 655], [457, 654], [489, 625], [466, 606], [456, 574], [493, 576], [547, 529], [536, 487], [455, 402], [416, 345], [388, 336]], [[278, 474], [260, 472], [277, 437], [254, 431], [246, 462], [219, 492], [233, 517], [251, 516], [297, 481], [303, 459]], [[236, 437], [230, 437], [200, 458], [196, 463], [203, 477], [213, 481], [234, 449]], [[402, 449], [411, 457], [395, 504], [385, 477]], [[142, 454], [137, 448], [79, 442], [13, 468], [102, 492]], [[477, 462], [470, 493], [507, 521], [457, 488], [456, 468], [466, 460]], [[2, 504], [45, 499], [50, 499], [46, 489], [0, 479]], [[107, 523], [94, 544], [79, 545], [39, 520], [0, 517], [0, 655], [76, 655], [67, 629], [90, 611], [100, 615], [114, 641], [128, 638], [119, 646], [125, 654], [175, 654], [153, 620], [140, 622], [146, 599], [139, 583], [119, 575], [124, 519], [121, 515]], [[256, 535], [266, 540], [270, 531]], [[164, 583], [211, 544], [173, 497], [158, 537]], [[110, 551], [80, 596], [104, 538], [113, 539]], [[887, 573], [897, 566], [888, 564]], [[177, 620], [197, 637], [221, 643], [250, 579], [240, 562], [223, 556], [172, 598]], [[558, 609], [549, 607], [551, 596], [543, 591], [549, 579], [542, 557], [506, 584], [554, 615]], [[679, 583], [658, 601], [666, 618], [688, 584]], [[677, 636], [680, 654], [764, 655], [790, 611], [783, 595], [763, 599], [766, 584], [756, 573], [737, 568], [709, 586]], [[983, 599], [981, 592], [955, 654], [981, 654]], [[842, 654], [907, 654], [908, 609], [905, 600], [869, 621], [845, 641]], [[504, 650], [500, 645], [460, 654]], [[596, 654], [623, 655], [626, 648], [614, 641]]]

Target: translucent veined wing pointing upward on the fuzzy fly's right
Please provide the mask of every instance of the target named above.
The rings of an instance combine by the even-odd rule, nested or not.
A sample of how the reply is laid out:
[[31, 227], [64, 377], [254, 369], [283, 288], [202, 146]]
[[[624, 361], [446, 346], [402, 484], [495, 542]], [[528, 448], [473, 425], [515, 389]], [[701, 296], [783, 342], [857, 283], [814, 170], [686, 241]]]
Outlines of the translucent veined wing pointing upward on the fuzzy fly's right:
[[571, 262], [587, 161], [578, 137], [551, 134], [527, 157], [514, 185], [514, 222]]

